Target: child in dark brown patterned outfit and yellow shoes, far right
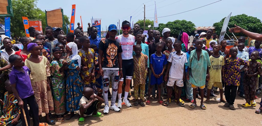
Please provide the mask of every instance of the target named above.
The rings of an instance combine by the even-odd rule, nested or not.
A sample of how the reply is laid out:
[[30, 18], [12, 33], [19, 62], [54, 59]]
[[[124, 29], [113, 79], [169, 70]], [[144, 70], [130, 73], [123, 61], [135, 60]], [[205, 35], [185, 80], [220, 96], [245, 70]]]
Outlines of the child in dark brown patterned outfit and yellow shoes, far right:
[[245, 68], [244, 74], [244, 89], [245, 89], [245, 100], [246, 103], [242, 104], [244, 107], [256, 106], [254, 102], [255, 92], [256, 92], [256, 82], [258, 80], [258, 75], [261, 75], [261, 64], [256, 61], [258, 59], [258, 51], [253, 51], [250, 55], [251, 61], [248, 61], [248, 66]]

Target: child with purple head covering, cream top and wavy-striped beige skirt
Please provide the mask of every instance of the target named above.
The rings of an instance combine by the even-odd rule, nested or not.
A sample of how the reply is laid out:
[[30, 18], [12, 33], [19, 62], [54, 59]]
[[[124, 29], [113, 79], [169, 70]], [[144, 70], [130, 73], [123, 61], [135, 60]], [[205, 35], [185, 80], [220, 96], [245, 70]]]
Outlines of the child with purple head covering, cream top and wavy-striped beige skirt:
[[[34, 39], [42, 45], [38, 39]], [[54, 110], [54, 102], [50, 90], [50, 63], [45, 56], [40, 55], [40, 47], [36, 43], [29, 43], [27, 50], [31, 57], [25, 60], [25, 65], [31, 70], [31, 84], [35, 93], [35, 100], [39, 106], [38, 115], [46, 113], [46, 122], [50, 125], [55, 124], [49, 118], [49, 111]]]

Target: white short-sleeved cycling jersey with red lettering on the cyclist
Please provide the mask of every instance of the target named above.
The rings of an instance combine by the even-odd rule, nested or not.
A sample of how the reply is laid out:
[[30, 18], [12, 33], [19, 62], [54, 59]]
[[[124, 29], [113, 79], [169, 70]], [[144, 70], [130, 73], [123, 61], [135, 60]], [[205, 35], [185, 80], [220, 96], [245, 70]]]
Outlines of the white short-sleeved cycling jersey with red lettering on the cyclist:
[[122, 59], [133, 59], [133, 46], [135, 46], [135, 36], [130, 34], [128, 37], [119, 35], [116, 37], [116, 41], [121, 44], [121, 48], [123, 50], [123, 52], [121, 53]]

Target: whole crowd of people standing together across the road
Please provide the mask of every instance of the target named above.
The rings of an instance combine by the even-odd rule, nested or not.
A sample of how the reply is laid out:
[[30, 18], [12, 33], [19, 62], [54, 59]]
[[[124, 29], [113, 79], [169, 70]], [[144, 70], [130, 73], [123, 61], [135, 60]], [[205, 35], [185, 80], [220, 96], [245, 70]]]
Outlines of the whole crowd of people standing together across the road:
[[[109, 109], [119, 112], [122, 105], [131, 107], [131, 101], [144, 107], [154, 99], [168, 106], [174, 98], [184, 107], [184, 98], [194, 109], [198, 98], [205, 110], [204, 102], [217, 97], [217, 89], [225, 107], [235, 109], [237, 94], [245, 98], [243, 107], [256, 106], [262, 41], [248, 48], [241, 36], [228, 49], [212, 29], [196, 34], [192, 44], [185, 32], [179, 40], [170, 37], [169, 28], [163, 29], [162, 37], [152, 29], [146, 37], [139, 24], [131, 29], [128, 21], [121, 29], [122, 35], [116, 36], [117, 26], [111, 24], [106, 38], [99, 38], [95, 26], [89, 27], [88, 36], [79, 28], [65, 36], [61, 28], [47, 26], [43, 35], [30, 27], [30, 37], [21, 38], [19, 50], [2, 36], [0, 125], [30, 125], [30, 117], [34, 126], [54, 125], [51, 111], [57, 122], [71, 119], [77, 111], [78, 123], [84, 124], [86, 116], [103, 117]], [[129, 100], [132, 88], [134, 99]], [[262, 101], [255, 112], [261, 111]], [[39, 123], [42, 113], [45, 123]]]

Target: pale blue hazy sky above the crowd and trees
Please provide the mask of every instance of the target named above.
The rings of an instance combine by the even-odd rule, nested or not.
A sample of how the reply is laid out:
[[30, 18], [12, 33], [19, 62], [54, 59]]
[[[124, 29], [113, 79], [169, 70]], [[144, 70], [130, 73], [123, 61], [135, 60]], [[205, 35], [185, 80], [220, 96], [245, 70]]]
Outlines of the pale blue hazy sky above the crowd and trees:
[[[155, 0], [157, 8], [157, 16], [167, 16], [195, 9], [219, 0]], [[72, 4], [76, 4], [75, 9], [75, 28], [77, 22], [82, 17], [83, 30], [87, 31], [88, 22], [91, 18], [101, 19], [101, 30], [105, 31], [110, 24], [120, 25], [123, 20], [137, 22], [144, 19], [144, 5], [146, 18], [153, 20], [155, 5], [154, 0], [101, 0], [94, 3], [93, 1], [81, 0], [39, 0], [37, 7], [41, 10], [50, 10], [61, 7], [64, 15], [71, 19]], [[192, 21], [196, 27], [212, 26], [215, 22], [219, 22], [222, 18], [232, 12], [231, 16], [239, 14], [247, 14], [262, 20], [261, 0], [222, 0], [202, 8], [198, 8], [189, 12], [158, 18], [159, 23], [167, 23], [174, 20]], [[143, 25], [143, 24], [142, 24]], [[81, 26], [81, 25], [80, 25]]]

